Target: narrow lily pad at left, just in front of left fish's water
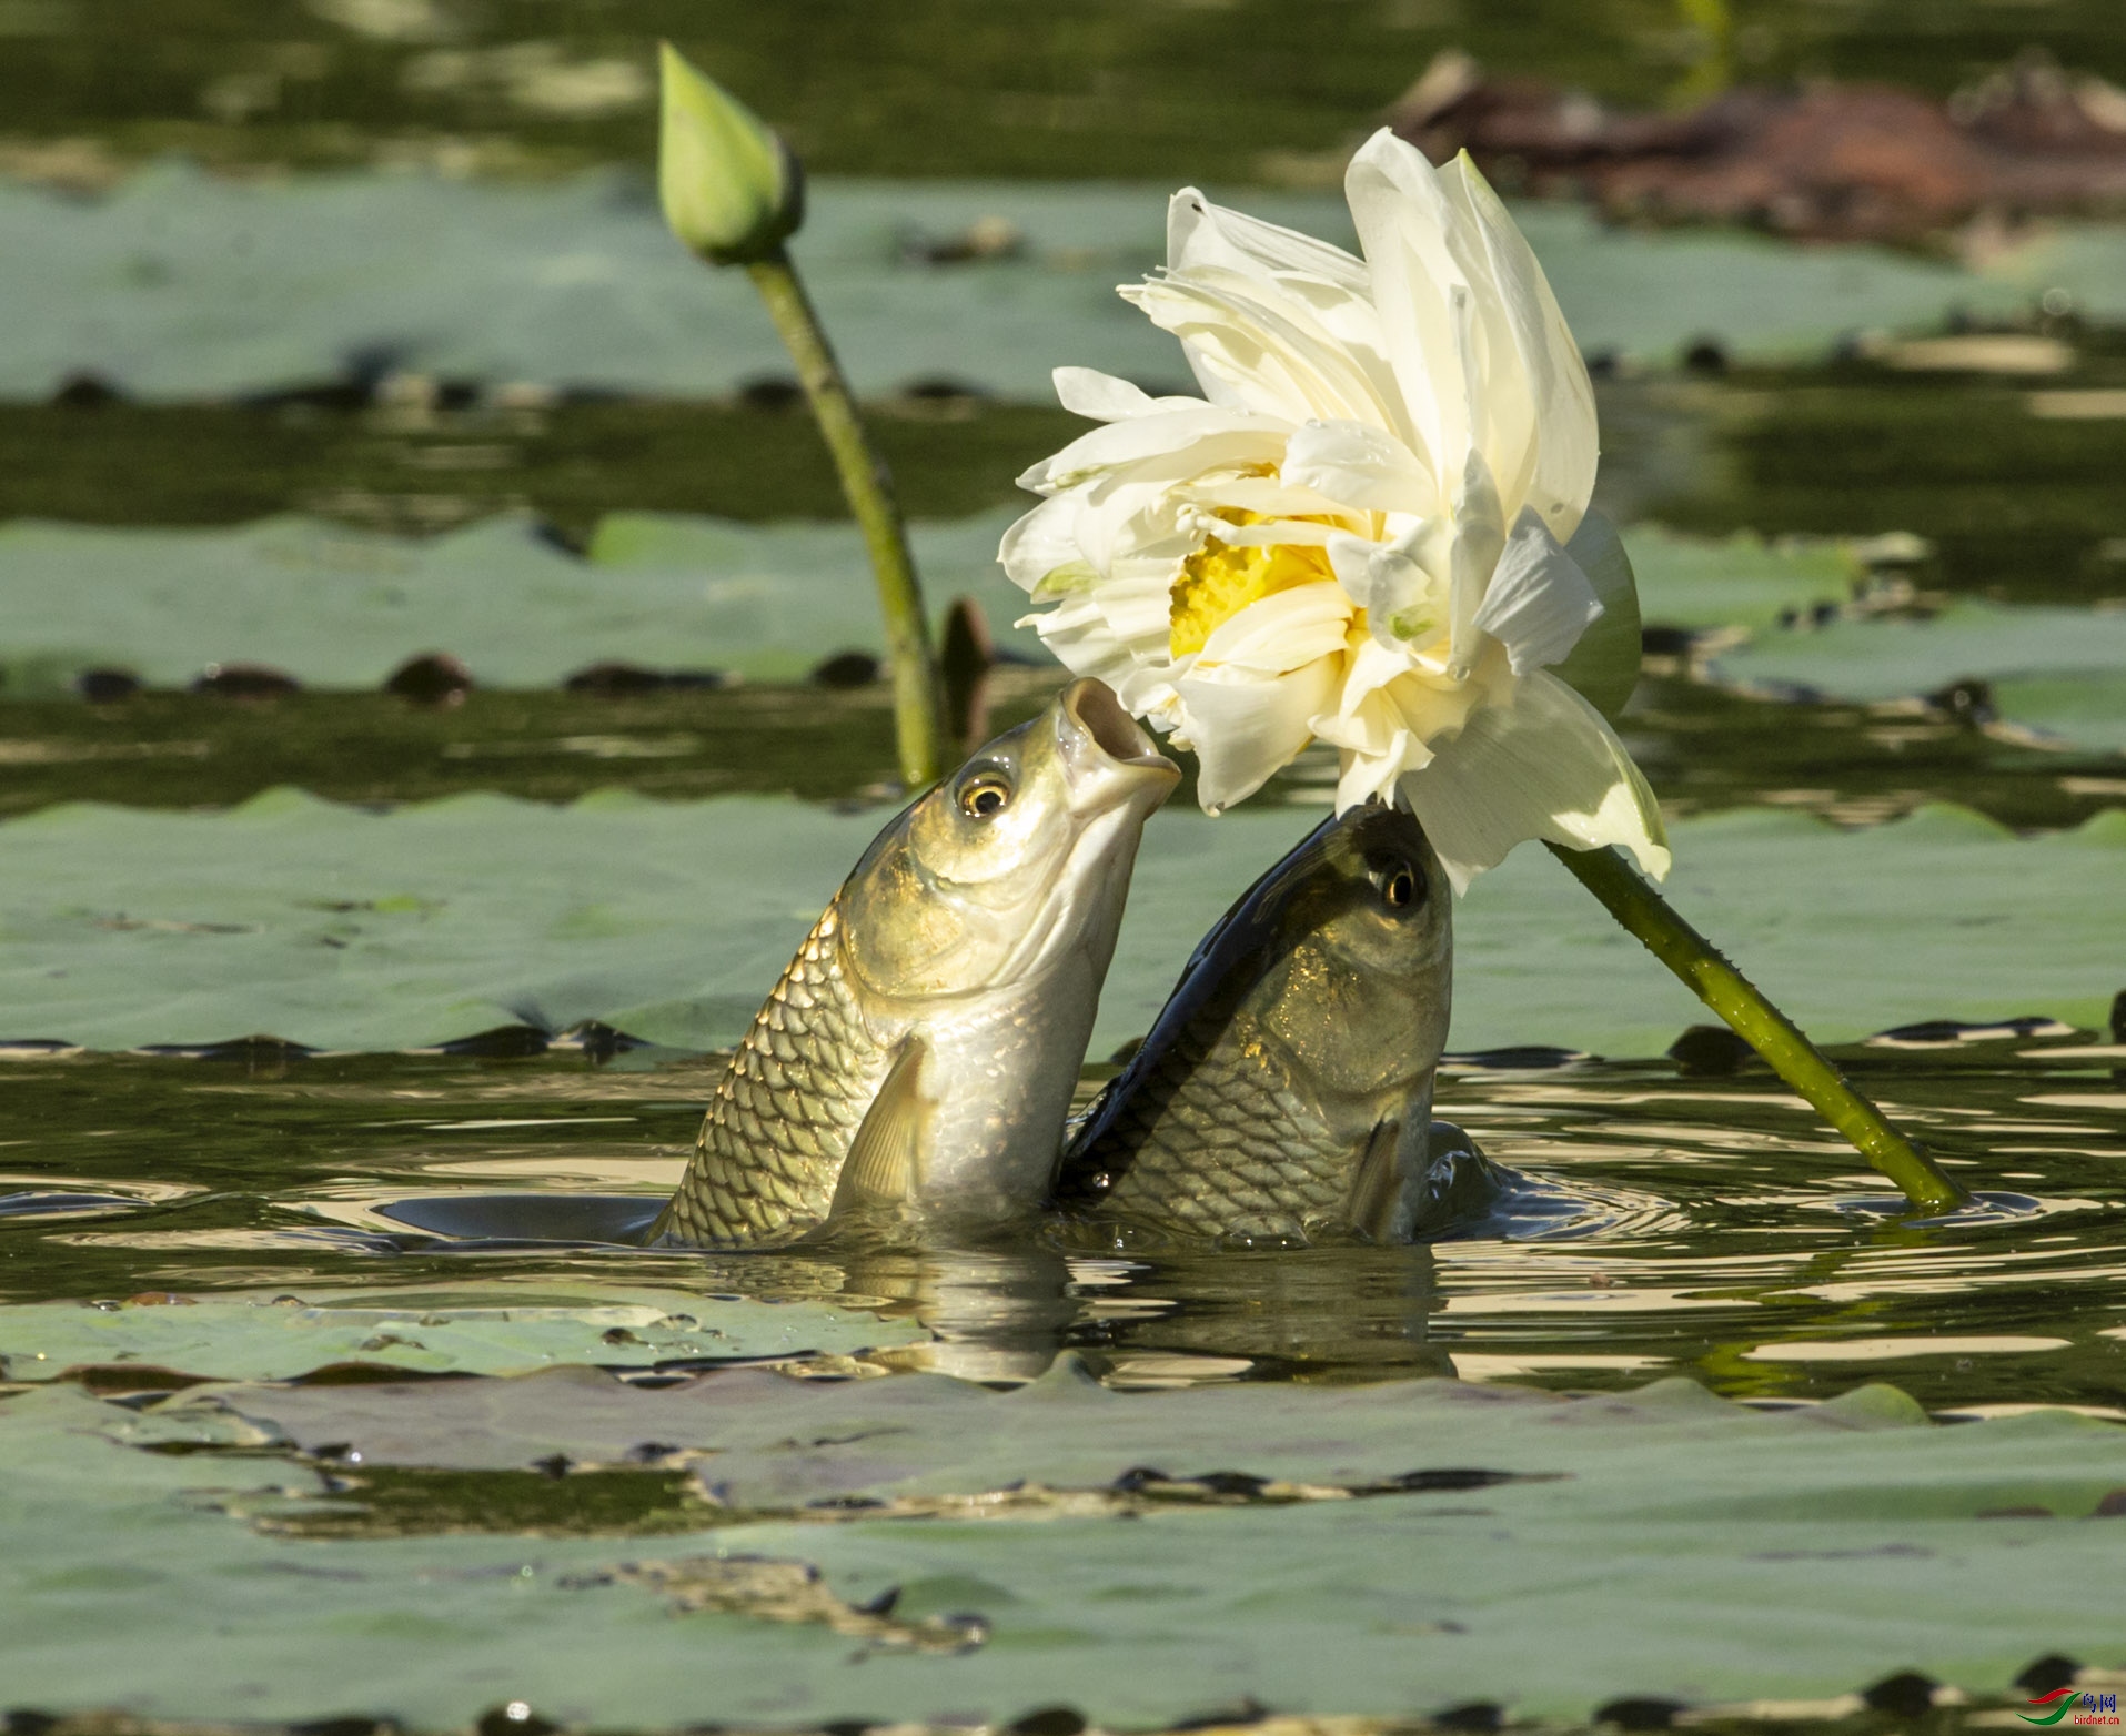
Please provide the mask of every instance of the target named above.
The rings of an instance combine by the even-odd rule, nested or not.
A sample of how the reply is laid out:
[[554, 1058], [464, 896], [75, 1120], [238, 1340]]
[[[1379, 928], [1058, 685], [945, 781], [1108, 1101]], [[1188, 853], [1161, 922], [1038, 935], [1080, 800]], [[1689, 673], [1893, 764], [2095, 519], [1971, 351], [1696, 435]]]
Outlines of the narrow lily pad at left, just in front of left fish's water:
[[918, 1328], [816, 1303], [506, 1283], [436, 1296], [19, 1303], [0, 1307], [0, 1375], [49, 1381], [81, 1366], [138, 1364], [202, 1379], [274, 1381], [338, 1362], [419, 1375], [519, 1375], [561, 1364], [648, 1368], [833, 1354], [918, 1337]]

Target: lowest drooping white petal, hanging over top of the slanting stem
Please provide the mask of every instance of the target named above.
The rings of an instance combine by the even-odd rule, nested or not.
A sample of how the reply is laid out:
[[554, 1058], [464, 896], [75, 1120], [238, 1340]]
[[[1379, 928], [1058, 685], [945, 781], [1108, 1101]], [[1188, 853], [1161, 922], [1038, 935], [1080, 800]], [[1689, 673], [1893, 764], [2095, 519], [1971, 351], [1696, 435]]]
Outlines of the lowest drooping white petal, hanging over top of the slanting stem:
[[1667, 875], [1654, 793], [1601, 712], [1556, 676], [1520, 676], [1507, 703], [1478, 708], [1433, 750], [1401, 795], [1456, 890], [1529, 837], [1569, 850], [1616, 844], [1656, 880]]

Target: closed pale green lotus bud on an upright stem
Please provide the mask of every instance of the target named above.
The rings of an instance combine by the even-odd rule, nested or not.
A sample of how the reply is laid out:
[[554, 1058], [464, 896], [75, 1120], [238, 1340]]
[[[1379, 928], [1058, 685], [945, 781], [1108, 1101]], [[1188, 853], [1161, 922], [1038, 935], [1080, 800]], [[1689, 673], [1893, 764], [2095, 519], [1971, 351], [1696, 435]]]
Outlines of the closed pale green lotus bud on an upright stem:
[[804, 170], [759, 115], [665, 42], [657, 198], [665, 223], [719, 266], [772, 257], [804, 223]]

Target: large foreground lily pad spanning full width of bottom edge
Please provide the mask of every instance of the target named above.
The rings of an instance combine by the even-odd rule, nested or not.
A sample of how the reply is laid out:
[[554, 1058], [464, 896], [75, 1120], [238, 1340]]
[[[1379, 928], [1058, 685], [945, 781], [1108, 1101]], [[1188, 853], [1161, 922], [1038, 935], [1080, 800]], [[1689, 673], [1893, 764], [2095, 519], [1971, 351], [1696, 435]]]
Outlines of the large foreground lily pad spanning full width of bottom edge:
[[[527, 1383], [563, 1417], [566, 1385]], [[755, 1460], [780, 1456], [799, 1477], [808, 1462], [912, 1458], [921, 1441], [935, 1458], [918, 1479], [961, 1490], [1006, 1468], [1114, 1475], [1146, 1449], [1176, 1475], [1397, 1464], [1541, 1479], [1159, 1509], [1127, 1526], [725, 1521], [655, 1543], [461, 1532], [438, 1509], [432, 1534], [321, 1541], [287, 1528], [304, 1511], [355, 1519], [359, 1466], [327, 1487], [272, 1458], [145, 1453], [111, 1439], [136, 1430], [128, 1411], [43, 1388], [0, 1400], [9, 1696], [417, 1728], [463, 1725], [504, 1698], [617, 1728], [1003, 1723], [1044, 1704], [1159, 1728], [1237, 1696], [1403, 1717], [1486, 1698], [1584, 1721], [1622, 1696], [1824, 1698], [1896, 1668], [2001, 1694], [2045, 1651], [2126, 1664], [2111, 1521], [2088, 1517], [2126, 1477], [2126, 1449], [2064, 1413], [1926, 1428], [1873, 1388], [1760, 1415], [1680, 1381], [1605, 1400], [1448, 1381], [1120, 1396], [1067, 1371], [1010, 1396], [738, 1385], [729, 1417], [695, 1407], [704, 1439], [748, 1439]], [[648, 1417], [655, 1394], [631, 1396]], [[261, 1413], [274, 1398], [227, 1394]], [[381, 1439], [404, 1407], [383, 1409], [349, 1407], [347, 1426]], [[865, 1439], [808, 1443], [814, 1430]], [[461, 1473], [459, 1502], [476, 1479]], [[944, 1619], [961, 1645], [861, 1632], [853, 1615], [884, 1613], [895, 1587], [893, 1623]]]

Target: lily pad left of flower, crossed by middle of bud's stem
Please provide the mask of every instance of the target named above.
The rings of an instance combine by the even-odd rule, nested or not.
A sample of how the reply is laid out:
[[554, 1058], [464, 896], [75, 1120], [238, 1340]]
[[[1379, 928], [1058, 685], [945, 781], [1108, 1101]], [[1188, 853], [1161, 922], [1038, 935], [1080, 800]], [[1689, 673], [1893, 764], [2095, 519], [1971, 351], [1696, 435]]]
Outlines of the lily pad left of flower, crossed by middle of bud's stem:
[[[1025, 595], [995, 565], [1010, 512], [914, 531], [942, 616], [978, 597], [1012, 650]], [[578, 559], [521, 514], [434, 540], [264, 518], [227, 531], [0, 527], [0, 674], [64, 688], [123, 667], [183, 686], [261, 663], [308, 686], [374, 688], [449, 650], [483, 686], [557, 686], [591, 663], [791, 680], [823, 654], [884, 650], [855, 525], [736, 525], [617, 514]]]

